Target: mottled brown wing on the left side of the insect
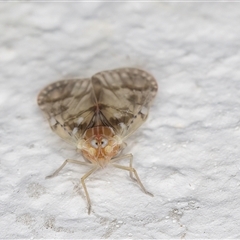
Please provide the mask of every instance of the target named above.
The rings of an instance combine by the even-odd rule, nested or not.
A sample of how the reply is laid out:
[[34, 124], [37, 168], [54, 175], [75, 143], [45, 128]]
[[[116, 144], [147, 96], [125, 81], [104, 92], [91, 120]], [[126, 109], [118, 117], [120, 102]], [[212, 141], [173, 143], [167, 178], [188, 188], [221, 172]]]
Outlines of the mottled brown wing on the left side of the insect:
[[38, 105], [50, 127], [61, 138], [75, 143], [91, 123], [95, 97], [90, 79], [58, 81], [38, 95]]

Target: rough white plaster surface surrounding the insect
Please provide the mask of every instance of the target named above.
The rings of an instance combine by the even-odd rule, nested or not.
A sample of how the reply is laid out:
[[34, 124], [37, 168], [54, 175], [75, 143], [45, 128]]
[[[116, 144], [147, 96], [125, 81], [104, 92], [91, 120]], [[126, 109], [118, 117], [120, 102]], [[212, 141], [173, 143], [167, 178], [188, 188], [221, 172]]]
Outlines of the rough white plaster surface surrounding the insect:
[[[240, 238], [240, 24], [235, 3], [0, 4], [0, 238]], [[38, 92], [119, 67], [159, 93], [127, 172], [86, 167], [51, 132]]]

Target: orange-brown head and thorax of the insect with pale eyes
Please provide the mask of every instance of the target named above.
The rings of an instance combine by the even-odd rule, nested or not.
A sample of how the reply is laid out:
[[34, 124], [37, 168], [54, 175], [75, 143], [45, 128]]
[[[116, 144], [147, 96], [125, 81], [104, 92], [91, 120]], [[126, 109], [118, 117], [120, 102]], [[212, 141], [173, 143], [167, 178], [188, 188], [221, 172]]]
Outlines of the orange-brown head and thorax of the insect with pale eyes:
[[96, 126], [85, 131], [77, 147], [93, 164], [104, 167], [122, 147], [122, 140], [111, 127]]

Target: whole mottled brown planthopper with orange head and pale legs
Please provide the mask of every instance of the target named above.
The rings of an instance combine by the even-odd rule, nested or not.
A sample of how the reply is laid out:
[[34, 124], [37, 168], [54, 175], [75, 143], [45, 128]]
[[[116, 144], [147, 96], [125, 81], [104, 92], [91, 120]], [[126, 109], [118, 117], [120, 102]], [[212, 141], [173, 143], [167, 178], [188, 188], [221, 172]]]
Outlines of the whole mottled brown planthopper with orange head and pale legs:
[[[132, 166], [133, 155], [120, 153], [127, 137], [146, 120], [157, 89], [157, 82], [149, 73], [120, 68], [99, 72], [92, 78], [58, 81], [39, 93], [38, 105], [53, 132], [76, 146], [85, 159], [67, 159], [48, 177], [56, 176], [67, 163], [89, 166], [81, 178], [88, 214], [91, 200], [85, 180], [108, 164], [128, 171], [143, 192], [153, 196]], [[129, 159], [129, 166], [117, 164], [121, 159]]]

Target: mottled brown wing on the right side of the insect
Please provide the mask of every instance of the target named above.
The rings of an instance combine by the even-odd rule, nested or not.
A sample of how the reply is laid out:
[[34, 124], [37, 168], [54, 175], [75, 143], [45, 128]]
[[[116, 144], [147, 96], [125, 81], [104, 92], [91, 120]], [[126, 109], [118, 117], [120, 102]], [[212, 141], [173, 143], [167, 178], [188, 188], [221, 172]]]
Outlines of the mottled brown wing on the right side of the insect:
[[123, 139], [146, 120], [158, 89], [153, 76], [135, 68], [99, 72], [92, 77], [92, 85], [102, 123]]

